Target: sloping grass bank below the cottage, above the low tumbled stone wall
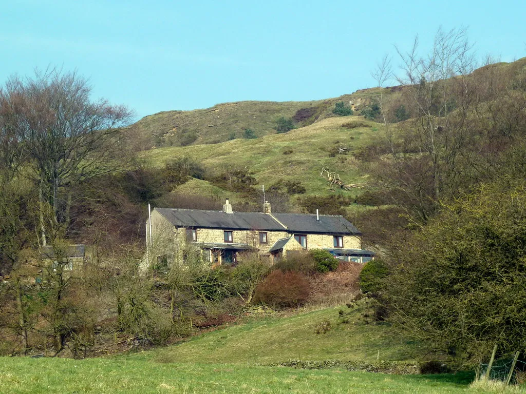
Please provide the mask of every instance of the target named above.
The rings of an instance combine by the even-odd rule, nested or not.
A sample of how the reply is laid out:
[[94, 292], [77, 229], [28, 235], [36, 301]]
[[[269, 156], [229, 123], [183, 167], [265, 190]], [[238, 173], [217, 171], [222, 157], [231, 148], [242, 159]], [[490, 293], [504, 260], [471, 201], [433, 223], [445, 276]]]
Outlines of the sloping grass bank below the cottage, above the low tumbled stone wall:
[[[328, 308], [286, 318], [267, 318], [259, 322], [228, 327], [192, 338], [184, 343], [141, 352], [132, 359], [163, 362], [210, 362], [270, 365], [296, 360], [339, 360], [375, 362], [408, 360], [414, 345], [395, 339], [387, 324], [366, 324], [358, 313], [349, 323], [339, 323], [339, 310]], [[332, 329], [316, 334], [328, 320]]]

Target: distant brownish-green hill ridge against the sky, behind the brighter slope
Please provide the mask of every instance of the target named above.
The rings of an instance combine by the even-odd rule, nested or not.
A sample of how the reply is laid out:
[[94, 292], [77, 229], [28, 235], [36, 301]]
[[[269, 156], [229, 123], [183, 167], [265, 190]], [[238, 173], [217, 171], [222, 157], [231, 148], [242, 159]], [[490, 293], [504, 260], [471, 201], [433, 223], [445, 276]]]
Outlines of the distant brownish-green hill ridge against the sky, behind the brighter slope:
[[164, 111], [140, 119], [126, 132], [141, 139], [143, 149], [217, 143], [241, 138], [246, 129], [262, 137], [276, 133], [276, 120], [280, 117], [293, 118], [297, 127], [307, 126], [332, 116], [336, 102], [358, 97], [370, 102], [377, 90], [316, 101], [239, 101], [193, 111]]

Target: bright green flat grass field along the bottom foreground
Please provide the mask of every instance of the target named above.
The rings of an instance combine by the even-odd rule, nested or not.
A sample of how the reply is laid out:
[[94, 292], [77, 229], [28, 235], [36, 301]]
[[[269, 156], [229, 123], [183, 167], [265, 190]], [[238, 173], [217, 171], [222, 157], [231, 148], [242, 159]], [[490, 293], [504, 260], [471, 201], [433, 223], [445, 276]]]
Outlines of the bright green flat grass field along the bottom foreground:
[[145, 360], [0, 358], [7, 393], [463, 393], [469, 374], [399, 376]]

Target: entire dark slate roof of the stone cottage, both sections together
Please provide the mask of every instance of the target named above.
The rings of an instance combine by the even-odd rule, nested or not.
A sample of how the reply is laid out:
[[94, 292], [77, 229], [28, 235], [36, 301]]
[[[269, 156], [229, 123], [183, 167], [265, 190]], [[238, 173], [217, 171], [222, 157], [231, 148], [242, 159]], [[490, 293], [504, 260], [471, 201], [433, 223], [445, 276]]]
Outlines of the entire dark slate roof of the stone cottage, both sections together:
[[176, 227], [201, 227], [221, 230], [268, 230], [289, 233], [361, 235], [355, 225], [343, 216], [205, 211], [194, 209], [155, 208]]

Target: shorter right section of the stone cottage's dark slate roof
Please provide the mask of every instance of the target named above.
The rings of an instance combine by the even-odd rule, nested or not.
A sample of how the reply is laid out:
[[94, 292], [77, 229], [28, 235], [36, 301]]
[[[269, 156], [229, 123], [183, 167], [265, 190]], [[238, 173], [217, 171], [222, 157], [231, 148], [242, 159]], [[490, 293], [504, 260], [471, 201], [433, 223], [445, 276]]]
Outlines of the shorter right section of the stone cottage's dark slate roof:
[[319, 222], [313, 214], [272, 213], [272, 216], [293, 233], [361, 235], [360, 230], [343, 216], [319, 215]]

